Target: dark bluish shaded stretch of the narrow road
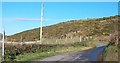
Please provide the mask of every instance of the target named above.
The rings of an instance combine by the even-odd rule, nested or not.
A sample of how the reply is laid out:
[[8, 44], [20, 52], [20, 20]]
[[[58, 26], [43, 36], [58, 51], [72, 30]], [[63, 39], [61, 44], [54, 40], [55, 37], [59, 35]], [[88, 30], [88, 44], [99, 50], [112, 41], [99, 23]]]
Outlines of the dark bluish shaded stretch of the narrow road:
[[74, 61], [97, 61], [100, 53], [103, 52], [106, 46], [100, 46], [94, 49], [81, 52]]

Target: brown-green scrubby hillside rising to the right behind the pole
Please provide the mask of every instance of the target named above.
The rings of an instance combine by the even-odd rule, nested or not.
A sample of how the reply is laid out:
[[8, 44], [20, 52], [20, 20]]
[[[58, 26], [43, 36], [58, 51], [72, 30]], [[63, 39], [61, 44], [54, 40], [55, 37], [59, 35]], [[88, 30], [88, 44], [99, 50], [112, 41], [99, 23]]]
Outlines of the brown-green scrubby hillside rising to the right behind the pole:
[[[108, 36], [114, 29], [117, 16], [86, 20], [71, 20], [43, 27], [43, 38], [71, 38], [80, 36]], [[37, 41], [39, 28], [23, 31], [7, 37], [8, 41]]]

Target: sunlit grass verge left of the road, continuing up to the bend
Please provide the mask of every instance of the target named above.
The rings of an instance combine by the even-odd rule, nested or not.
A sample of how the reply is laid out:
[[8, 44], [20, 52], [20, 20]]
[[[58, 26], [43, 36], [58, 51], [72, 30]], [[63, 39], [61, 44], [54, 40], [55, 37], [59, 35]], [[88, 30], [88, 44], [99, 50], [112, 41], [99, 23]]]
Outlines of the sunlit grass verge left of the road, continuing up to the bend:
[[[89, 44], [89, 45], [88, 45]], [[91, 46], [90, 46], [91, 44]], [[58, 47], [57, 48], [53, 48], [49, 51], [44, 51], [39, 53], [25, 53], [23, 55], [18, 55], [16, 56], [16, 61], [34, 61], [34, 60], [41, 60], [45, 57], [49, 57], [49, 56], [53, 56], [56, 54], [61, 54], [61, 53], [65, 53], [65, 52], [78, 52], [78, 51], [82, 51], [82, 50], [86, 50], [89, 48], [92, 48], [92, 44], [93, 43], [89, 43], [88, 41], [84, 41], [84, 42], [76, 42], [74, 44], [70, 44], [70, 45], [66, 45], [63, 47]], [[94, 47], [94, 46], [93, 46]]]

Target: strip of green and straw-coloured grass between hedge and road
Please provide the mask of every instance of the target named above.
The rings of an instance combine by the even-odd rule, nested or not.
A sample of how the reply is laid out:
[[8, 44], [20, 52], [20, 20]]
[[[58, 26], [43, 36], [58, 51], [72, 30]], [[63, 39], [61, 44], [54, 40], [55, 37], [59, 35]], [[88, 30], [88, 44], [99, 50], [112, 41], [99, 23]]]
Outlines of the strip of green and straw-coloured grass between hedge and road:
[[[85, 48], [85, 46], [68, 46], [68, 47], [59, 47], [59, 48], [55, 48], [55, 49], [51, 49], [49, 51], [44, 51], [44, 52], [36, 52], [36, 53], [25, 53], [24, 55], [19, 55], [16, 56], [16, 61], [37, 61], [37, 60], [41, 60], [45, 57], [49, 57], [49, 56], [54, 56], [56, 54], [61, 54], [61, 53], [66, 53], [66, 52], [77, 52], [77, 51], [81, 51], [81, 50], [85, 50], [83, 49]], [[89, 47], [90, 48], [90, 47]], [[88, 48], [86, 48], [88, 49]]]

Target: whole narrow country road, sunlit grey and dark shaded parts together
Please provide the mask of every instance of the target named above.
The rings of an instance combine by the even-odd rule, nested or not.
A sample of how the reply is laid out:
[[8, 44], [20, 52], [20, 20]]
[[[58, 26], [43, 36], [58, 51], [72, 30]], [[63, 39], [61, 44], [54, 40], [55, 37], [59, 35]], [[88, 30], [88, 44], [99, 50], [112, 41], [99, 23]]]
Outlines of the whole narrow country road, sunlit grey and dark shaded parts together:
[[82, 52], [70, 52], [44, 58], [40, 61], [97, 61], [99, 55], [106, 48], [105, 44], [97, 43], [97, 48]]

